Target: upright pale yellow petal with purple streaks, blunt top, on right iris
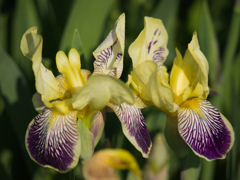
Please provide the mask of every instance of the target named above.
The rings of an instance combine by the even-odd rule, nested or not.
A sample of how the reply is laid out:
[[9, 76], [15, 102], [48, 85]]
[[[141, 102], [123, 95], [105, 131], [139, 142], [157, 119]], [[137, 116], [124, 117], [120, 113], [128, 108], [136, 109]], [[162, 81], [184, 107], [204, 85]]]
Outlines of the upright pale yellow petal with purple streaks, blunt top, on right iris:
[[144, 29], [129, 47], [133, 68], [146, 60], [153, 60], [161, 66], [168, 55], [167, 31], [160, 19], [144, 18]]

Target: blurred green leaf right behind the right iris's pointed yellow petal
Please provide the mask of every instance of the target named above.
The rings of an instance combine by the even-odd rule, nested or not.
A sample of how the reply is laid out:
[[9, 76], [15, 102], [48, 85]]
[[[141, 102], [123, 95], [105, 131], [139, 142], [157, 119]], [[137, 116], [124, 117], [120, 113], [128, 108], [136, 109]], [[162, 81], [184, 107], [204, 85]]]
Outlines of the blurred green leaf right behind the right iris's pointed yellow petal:
[[218, 90], [220, 83], [219, 48], [213, 22], [206, 1], [203, 1], [201, 6], [198, 38], [201, 51], [206, 56], [209, 63], [211, 87], [215, 90]]

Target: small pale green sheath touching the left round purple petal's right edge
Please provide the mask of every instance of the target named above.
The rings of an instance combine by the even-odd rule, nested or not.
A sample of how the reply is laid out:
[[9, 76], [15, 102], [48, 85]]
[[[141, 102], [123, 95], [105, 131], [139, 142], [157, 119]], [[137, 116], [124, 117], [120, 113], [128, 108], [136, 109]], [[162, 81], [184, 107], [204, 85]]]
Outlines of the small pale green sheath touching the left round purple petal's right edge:
[[81, 138], [81, 159], [89, 159], [94, 152], [94, 137], [81, 119], [78, 119], [78, 132]]

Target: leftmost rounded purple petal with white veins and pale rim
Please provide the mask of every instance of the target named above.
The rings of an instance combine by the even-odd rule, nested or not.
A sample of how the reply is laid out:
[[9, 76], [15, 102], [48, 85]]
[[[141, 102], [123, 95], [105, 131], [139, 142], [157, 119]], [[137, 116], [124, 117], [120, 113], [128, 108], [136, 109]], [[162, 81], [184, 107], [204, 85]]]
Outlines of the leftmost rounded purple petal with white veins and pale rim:
[[77, 129], [77, 111], [61, 115], [45, 108], [29, 124], [26, 147], [30, 157], [38, 164], [60, 172], [74, 168], [81, 151]]

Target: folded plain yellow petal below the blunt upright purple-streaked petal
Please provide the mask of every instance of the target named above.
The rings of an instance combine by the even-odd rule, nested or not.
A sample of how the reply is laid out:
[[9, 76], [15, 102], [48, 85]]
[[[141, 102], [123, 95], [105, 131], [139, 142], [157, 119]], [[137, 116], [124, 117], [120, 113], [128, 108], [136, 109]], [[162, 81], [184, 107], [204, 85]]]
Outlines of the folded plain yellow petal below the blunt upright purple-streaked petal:
[[166, 67], [158, 69], [153, 61], [142, 62], [133, 69], [132, 84], [143, 99], [152, 101], [156, 107], [168, 112], [177, 110], [178, 106], [173, 103], [172, 89], [168, 84]]

